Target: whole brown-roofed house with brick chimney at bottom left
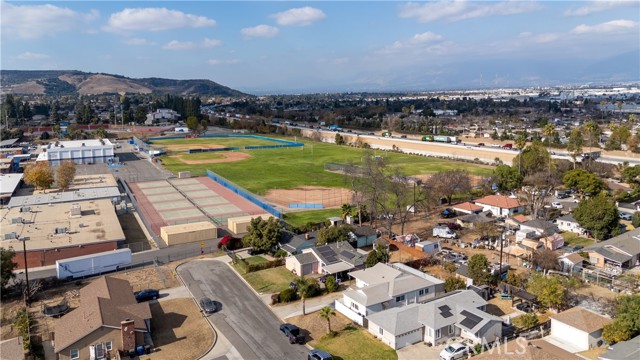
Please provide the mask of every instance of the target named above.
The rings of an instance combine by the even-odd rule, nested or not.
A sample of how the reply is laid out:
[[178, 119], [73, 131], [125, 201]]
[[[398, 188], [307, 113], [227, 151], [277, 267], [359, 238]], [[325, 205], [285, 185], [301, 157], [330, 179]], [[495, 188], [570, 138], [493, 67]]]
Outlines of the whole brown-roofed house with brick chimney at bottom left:
[[117, 351], [153, 347], [150, 329], [149, 303], [136, 301], [127, 280], [104, 276], [82, 288], [80, 306], [56, 321], [54, 351], [58, 359], [113, 359]]

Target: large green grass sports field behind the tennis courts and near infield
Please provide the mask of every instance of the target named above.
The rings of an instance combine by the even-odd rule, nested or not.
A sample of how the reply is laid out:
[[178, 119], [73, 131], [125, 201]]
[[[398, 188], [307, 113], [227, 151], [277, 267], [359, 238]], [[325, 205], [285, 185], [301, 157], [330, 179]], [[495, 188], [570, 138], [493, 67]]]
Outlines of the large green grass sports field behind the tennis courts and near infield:
[[[217, 143], [219, 139], [180, 139], [179, 141], [186, 140]], [[305, 143], [304, 148], [247, 151], [251, 156], [240, 162], [188, 165], [167, 156], [160, 157], [160, 159], [165, 167], [174, 173], [191, 171], [193, 176], [204, 176], [206, 169], [210, 169], [255, 194], [264, 195], [270, 189], [293, 189], [304, 185], [346, 187], [345, 177], [341, 174], [325, 171], [325, 163], [353, 162], [360, 164], [365, 153], [363, 149], [348, 146], [302, 142]], [[493, 171], [493, 168], [489, 166], [451, 160], [384, 151], [372, 151], [372, 153], [382, 156], [387, 164], [399, 167], [407, 175], [435, 173], [449, 169], [466, 169], [473, 175], [484, 176]]]

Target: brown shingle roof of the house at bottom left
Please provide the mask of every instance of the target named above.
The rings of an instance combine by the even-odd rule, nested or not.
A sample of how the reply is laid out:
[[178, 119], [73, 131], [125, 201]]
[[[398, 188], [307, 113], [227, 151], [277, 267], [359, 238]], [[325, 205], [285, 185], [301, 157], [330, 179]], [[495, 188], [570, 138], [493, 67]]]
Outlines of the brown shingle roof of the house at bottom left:
[[101, 277], [80, 290], [80, 307], [55, 323], [55, 351], [68, 346], [102, 326], [120, 327], [134, 320], [136, 330], [148, 331], [145, 319], [151, 318], [149, 303], [139, 303], [127, 280]]

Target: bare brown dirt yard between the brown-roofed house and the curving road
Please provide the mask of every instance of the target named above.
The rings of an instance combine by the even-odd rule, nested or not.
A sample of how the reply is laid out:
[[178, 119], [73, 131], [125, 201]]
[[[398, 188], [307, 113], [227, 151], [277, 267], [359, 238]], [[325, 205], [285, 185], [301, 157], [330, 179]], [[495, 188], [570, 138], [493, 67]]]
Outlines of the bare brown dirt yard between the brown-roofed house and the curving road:
[[213, 330], [192, 299], [152, 303], [151, 315], [156, 351], [140, 359], [196, 359], [213, 344]]

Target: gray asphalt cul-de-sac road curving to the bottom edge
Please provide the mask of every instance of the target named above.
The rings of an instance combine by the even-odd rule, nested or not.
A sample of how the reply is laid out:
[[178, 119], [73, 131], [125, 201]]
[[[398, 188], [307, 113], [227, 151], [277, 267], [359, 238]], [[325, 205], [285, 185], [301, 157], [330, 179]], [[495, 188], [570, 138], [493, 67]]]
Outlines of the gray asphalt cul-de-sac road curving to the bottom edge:
[[307, 358], [307, 348], [289, 344], [280, 333], [280, 320], [227, 264], [197, 260], [181, 265], [177, 270], [196, 299], [208, 296], [222, 303], [222, 310], [210, 315], [209, 319], [242, 358]]

